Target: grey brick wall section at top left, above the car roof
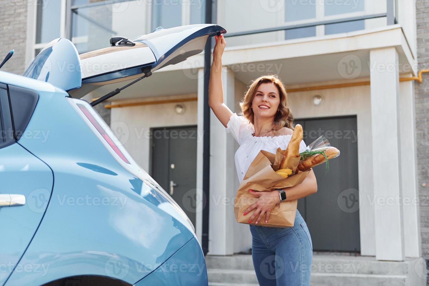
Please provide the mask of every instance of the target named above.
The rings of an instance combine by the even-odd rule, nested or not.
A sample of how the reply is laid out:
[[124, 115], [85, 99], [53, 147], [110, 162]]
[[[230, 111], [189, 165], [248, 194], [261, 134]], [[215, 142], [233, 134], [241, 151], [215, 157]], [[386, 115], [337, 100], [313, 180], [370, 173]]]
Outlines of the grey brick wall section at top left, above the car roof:
[[0, 63], [10, 50], [15, 49], [2, 71], [18, 75], [25, 71], [27, 5], [24, 0], [0, 0]]

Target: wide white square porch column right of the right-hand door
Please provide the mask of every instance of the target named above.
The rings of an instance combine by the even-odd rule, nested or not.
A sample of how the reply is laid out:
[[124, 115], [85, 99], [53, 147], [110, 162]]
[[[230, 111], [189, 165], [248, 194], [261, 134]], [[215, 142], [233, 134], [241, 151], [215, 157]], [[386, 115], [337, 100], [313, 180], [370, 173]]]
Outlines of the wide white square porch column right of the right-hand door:
[[[402, 204], [399, 69], [396, 48], [371, 50], [375, 257], [405, 258]], [[411, 178], [412, 180], [413, 178]], [[363, 222], [365, 223], [365, 222]]]

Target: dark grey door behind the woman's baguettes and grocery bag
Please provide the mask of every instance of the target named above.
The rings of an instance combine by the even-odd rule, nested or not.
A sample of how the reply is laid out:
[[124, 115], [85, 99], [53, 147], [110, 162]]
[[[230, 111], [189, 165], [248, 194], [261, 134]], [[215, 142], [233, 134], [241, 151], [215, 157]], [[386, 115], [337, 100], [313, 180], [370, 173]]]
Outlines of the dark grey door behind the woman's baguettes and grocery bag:
[[340, 156], [314, 167], [317, 193], [298, 200], [313, 250], [360, 252], [356, 116], [295, 120], [309, 145], [324, 135]]

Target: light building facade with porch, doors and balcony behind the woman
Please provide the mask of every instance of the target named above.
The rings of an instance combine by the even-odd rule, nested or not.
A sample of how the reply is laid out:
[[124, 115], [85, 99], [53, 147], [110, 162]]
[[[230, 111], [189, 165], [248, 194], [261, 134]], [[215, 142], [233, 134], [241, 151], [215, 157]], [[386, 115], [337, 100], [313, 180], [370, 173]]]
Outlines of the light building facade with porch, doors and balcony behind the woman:
[[[52, 39], [66, 37], [82, 54], [107, 47], [112, 36], [132, 39], [159, 26], [203, 23], [205, 11], [203, 0], [0, 2], [1, 52], [15, 48], [2, 70], [17, 74]], [[214, 8], [216, 24], [228, 31], [225, 104], [238, 112], [253, 79], [277, 74], [306, 144], [325, 135], [341, 151], [328, 175], [314, 169], [318, 192], [298, 202], [313, 250], [411, 259], [416, 269], [426, 263], [429, 75], [416, 78], [428, 69], [429, 1], [218, 0]], [[291, 25], [301, 26], [258, 32]], [[116, 87], [100, 87], [85, 99]], [[236, 223], [233, 212], [238, 144], [212, 113], [210, 191], [203, 200], [203, 98], [204, 56], [198, 54], [154, 72], [97, 111], [184, 208], [199, 239], [209, 224], [209, 255], [249, 253], [249, 227]], [[209, 217], [202, 216], [204, 202]]]

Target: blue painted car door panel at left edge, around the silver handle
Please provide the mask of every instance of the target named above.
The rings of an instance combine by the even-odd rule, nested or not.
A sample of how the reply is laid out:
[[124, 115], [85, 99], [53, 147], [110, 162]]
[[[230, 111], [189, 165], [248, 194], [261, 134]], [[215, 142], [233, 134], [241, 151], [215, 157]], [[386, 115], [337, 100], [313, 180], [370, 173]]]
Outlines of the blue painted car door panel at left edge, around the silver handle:
[[[0, 158], [0, 192], [21, 194], [27, 199], [26, 205], [0, 208], [0, 285], [3, 285], [42, 220], [47, 206], [43, 202], [51, 195], [54, 177], [45, 163], [17, 143], [1, 148]], [[33, 204], [34, 198], [41, 203]], [[20, 268], [18, 265], [16, 271]]]

